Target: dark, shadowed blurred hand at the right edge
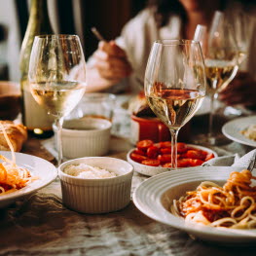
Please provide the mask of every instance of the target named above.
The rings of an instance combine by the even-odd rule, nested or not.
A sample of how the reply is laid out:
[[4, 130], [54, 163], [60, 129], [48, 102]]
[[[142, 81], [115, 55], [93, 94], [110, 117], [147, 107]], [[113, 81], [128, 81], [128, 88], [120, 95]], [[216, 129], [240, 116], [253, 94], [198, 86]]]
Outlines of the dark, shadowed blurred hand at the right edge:
[[235, 79], [219, 93], [227, 105], [256, 106], [256, 81], [247, 72], [239, 72]]

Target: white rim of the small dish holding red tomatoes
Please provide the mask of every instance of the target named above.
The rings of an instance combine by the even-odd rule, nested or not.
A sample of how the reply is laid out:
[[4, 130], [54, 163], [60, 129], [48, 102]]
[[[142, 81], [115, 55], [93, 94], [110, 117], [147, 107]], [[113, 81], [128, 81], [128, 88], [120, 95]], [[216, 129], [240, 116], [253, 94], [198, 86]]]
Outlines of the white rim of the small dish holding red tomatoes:
[[[208, 149], [208, 148], [205, 148], [205, 147], [201, 147], [201, 146], [198, 146], [198, 145], [193, 145], [193, 144], [187, 144], [187, 146], [195, 148], [195, 149], [200, 149], [200, 150], [206, 151], [209, 154], [212, 153], [215, 158], [218, 157], [217, 153], [215, 151], [211, 150], [211, 149]], [[141, 173], [143, 175], [154, 176], [154, 175], [157, 175], [157, 174], [160, 174], [160, 173], [163, 173], [165, 171], [169, 171], [170, 170], [170, 168], [167, 168], [167, 167], [142, 165], [142, 164], [139, 164], [139, 163], [133, 161], [129, 157], [133, 150], [135, 150], [135, 149], [133, 148], [133, 149], [131, 149], [128, 152], [127, 159], [128, 159], [128, 163], [133, 165], [135, 171], [137, 171], [137, 172], [139, 172], [139, 173]]]

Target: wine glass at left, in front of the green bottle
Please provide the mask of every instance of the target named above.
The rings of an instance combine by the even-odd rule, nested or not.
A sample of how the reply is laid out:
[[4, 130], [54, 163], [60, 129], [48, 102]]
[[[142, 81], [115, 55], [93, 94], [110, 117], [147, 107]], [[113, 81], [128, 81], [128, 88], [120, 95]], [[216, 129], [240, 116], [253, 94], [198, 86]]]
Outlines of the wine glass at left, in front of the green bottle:
[[29, 61], [28, 79], [30, 91], [37, 103], [55, 117], [57, 164], [60, 165], [63, 117], [77, 105], [86, 89], [86, 61], [79, 37], [36, 36]]

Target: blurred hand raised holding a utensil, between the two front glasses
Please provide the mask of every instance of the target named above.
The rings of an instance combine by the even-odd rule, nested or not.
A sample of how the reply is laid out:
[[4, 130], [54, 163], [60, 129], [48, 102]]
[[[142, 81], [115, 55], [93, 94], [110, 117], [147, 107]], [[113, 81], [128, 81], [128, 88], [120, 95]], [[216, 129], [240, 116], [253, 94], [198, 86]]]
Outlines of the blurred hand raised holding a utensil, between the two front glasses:
[[131, 66], [128, 62], [126, 52], [114, 41], [98, 44], [98, 49], [93, 54], [94, 67], [100, 76], [117, 84], [131, 73]]

